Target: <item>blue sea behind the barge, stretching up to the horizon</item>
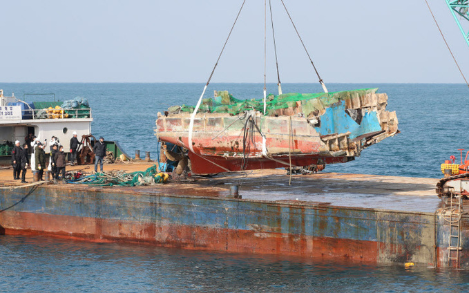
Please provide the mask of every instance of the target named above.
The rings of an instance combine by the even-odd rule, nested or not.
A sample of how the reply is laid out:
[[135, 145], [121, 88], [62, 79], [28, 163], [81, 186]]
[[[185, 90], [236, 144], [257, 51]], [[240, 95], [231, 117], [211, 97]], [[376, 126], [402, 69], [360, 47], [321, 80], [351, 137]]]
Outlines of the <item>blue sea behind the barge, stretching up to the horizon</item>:
[[[354, 162], [327, 166], [326, 171], [393, 176], [441, 176], [439, 164], [457, 149], [468, 149], [465, 117], [469, 115], [469, 90], [463, 84], [328, 84], [329, 91], [378, 87], [389, 95], [388, 109], [396, 111], [402, 133], [363, 151]], [[229, 90], [235, 97], [262, 97], [262, 84], [211, 84], [213, 90]], [[156, 159], [154, 135], [157, 112], [176, 104], [196, 104], [203, 84], [2, 84], [3, 92], [55, 93], [59, 100], [86, 97], [93, 108], [92, 131], [118, 140], [129, 155], [135, 149], [151, 151]], [[270, 84], [275, 93], [276, 86]], [[317, 84], [284, 84], [283, 91], [317, 93]], [[28, 100], [30, 100], [30, 96]], [[35, 99], [45, 99], [36, 96]], [[144, 153], [142, 153], [143, 155]]]

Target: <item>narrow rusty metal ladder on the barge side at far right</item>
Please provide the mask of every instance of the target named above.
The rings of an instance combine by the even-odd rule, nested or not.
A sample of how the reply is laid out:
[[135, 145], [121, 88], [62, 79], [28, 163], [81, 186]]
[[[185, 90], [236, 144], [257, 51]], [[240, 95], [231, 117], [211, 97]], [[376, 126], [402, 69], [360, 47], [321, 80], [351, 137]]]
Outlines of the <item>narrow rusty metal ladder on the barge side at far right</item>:
[[[453, 193], [454, 194], [454, 193]], [[454, 195], [450, 198], [450, 246], [448, 247], [448, 267], [459, 267], [461, 247], [461, 214], [462, 197]]]

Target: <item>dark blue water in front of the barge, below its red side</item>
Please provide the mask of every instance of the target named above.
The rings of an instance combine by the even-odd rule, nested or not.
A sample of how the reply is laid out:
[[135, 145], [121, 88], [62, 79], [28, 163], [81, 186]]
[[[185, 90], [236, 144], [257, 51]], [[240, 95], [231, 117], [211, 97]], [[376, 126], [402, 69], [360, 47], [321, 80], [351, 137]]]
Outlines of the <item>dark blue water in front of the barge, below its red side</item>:
[[459, 270], [0, 238], [1, 292], [468, 292]]

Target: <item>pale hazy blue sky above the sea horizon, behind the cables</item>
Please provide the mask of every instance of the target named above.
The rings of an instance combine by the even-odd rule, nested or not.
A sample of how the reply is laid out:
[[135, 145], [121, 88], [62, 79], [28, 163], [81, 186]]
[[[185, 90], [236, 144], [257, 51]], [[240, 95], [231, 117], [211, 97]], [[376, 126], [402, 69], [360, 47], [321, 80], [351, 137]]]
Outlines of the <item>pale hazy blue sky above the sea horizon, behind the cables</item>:
[[[326, 83], [463, 82], [424, 0], [284, 1]], [[469, 46], [446, 2], [428, 1], [469, 77]], [[1, 1], [0, 82], [205, 83], [241, 3]], [[280, 0], [271, 3], [281, 81], [317, 82]], [[211, 82], [263, 81], [264, 1], [246, 0]]]

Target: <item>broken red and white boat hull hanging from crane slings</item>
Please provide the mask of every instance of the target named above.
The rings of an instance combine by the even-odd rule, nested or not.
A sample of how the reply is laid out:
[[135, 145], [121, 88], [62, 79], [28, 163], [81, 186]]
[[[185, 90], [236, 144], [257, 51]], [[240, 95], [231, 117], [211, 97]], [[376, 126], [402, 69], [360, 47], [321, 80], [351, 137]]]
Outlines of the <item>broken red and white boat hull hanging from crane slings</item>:
[[398, 132], [396, 113], [385, 111], [387, 95], [376, 89], [284, 104], [289, 107], [271, 106], [268, 115], [158, 113], [156, 135], [188, 149], [192, 173], [201, 174], [349, 162]]

